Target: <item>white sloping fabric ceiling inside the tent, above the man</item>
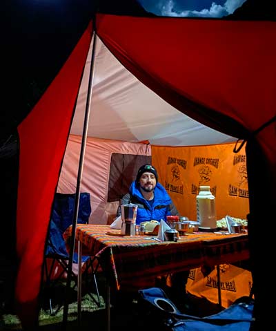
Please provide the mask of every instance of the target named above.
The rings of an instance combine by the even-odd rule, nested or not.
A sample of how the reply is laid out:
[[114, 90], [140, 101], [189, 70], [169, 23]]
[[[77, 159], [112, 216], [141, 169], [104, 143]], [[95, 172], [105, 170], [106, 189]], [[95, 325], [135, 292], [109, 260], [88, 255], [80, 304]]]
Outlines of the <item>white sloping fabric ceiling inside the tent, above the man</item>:
[[[97, 38], [88, 136], [166, 146], [234, 142], [192, 120], [139, 82]], [[71, 134], [81, 135], [86, 109], [92, 44], [83, 73]]]

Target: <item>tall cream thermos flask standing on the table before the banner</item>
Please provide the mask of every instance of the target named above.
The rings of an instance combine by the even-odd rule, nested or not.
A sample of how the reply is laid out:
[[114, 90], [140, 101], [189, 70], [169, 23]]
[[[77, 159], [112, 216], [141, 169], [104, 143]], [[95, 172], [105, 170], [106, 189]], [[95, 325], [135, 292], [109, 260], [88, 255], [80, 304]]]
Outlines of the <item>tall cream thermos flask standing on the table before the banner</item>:
[[199, 222], [199, 231], [217, 231], [215, 196], [211, 193], [210, 186], [199, 187], [197, 222]]

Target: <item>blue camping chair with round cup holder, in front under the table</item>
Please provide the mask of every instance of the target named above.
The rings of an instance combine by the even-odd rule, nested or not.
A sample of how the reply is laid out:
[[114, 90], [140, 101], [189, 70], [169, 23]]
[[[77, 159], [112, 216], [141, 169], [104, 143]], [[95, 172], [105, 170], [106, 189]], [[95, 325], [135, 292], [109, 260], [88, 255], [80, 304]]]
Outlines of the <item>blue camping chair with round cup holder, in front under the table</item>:
[[[253, 324], [254, 299], [242, 296], [228, 308], [209, 316], [182, 314], [159, 287], [138, 290], [140, 314], [166, 331], [249, 331]], [[153, 325], [152, 325], [153, 326]]]

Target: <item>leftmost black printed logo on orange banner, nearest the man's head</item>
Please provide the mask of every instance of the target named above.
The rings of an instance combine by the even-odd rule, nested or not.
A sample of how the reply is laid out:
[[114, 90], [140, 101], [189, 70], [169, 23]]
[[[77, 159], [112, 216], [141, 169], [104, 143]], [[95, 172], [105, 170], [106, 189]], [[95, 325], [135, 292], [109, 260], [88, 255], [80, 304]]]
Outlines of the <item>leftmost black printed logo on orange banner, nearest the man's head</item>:
[[183, 183], [181, 180], [181, 168], [186, 169], [187, 161], [168, 157], [167, 167], [170, 167], [170, 180], [165, 180], [165, 189], [170, 192], [184, 194]]

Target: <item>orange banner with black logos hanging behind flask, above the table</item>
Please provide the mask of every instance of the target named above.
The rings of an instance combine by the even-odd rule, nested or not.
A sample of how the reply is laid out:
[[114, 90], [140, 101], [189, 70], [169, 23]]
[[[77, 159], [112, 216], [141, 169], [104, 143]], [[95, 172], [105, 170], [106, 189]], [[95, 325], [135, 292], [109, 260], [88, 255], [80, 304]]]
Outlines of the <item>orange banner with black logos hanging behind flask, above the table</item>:
[[217, 220], [226, 215], [246, 219], [249, 212], [245, 147], [235, 143], [208, 146], [152, 146], [152, 165], [182, 216], [197, 220], [196, 196], [209, 185]]

